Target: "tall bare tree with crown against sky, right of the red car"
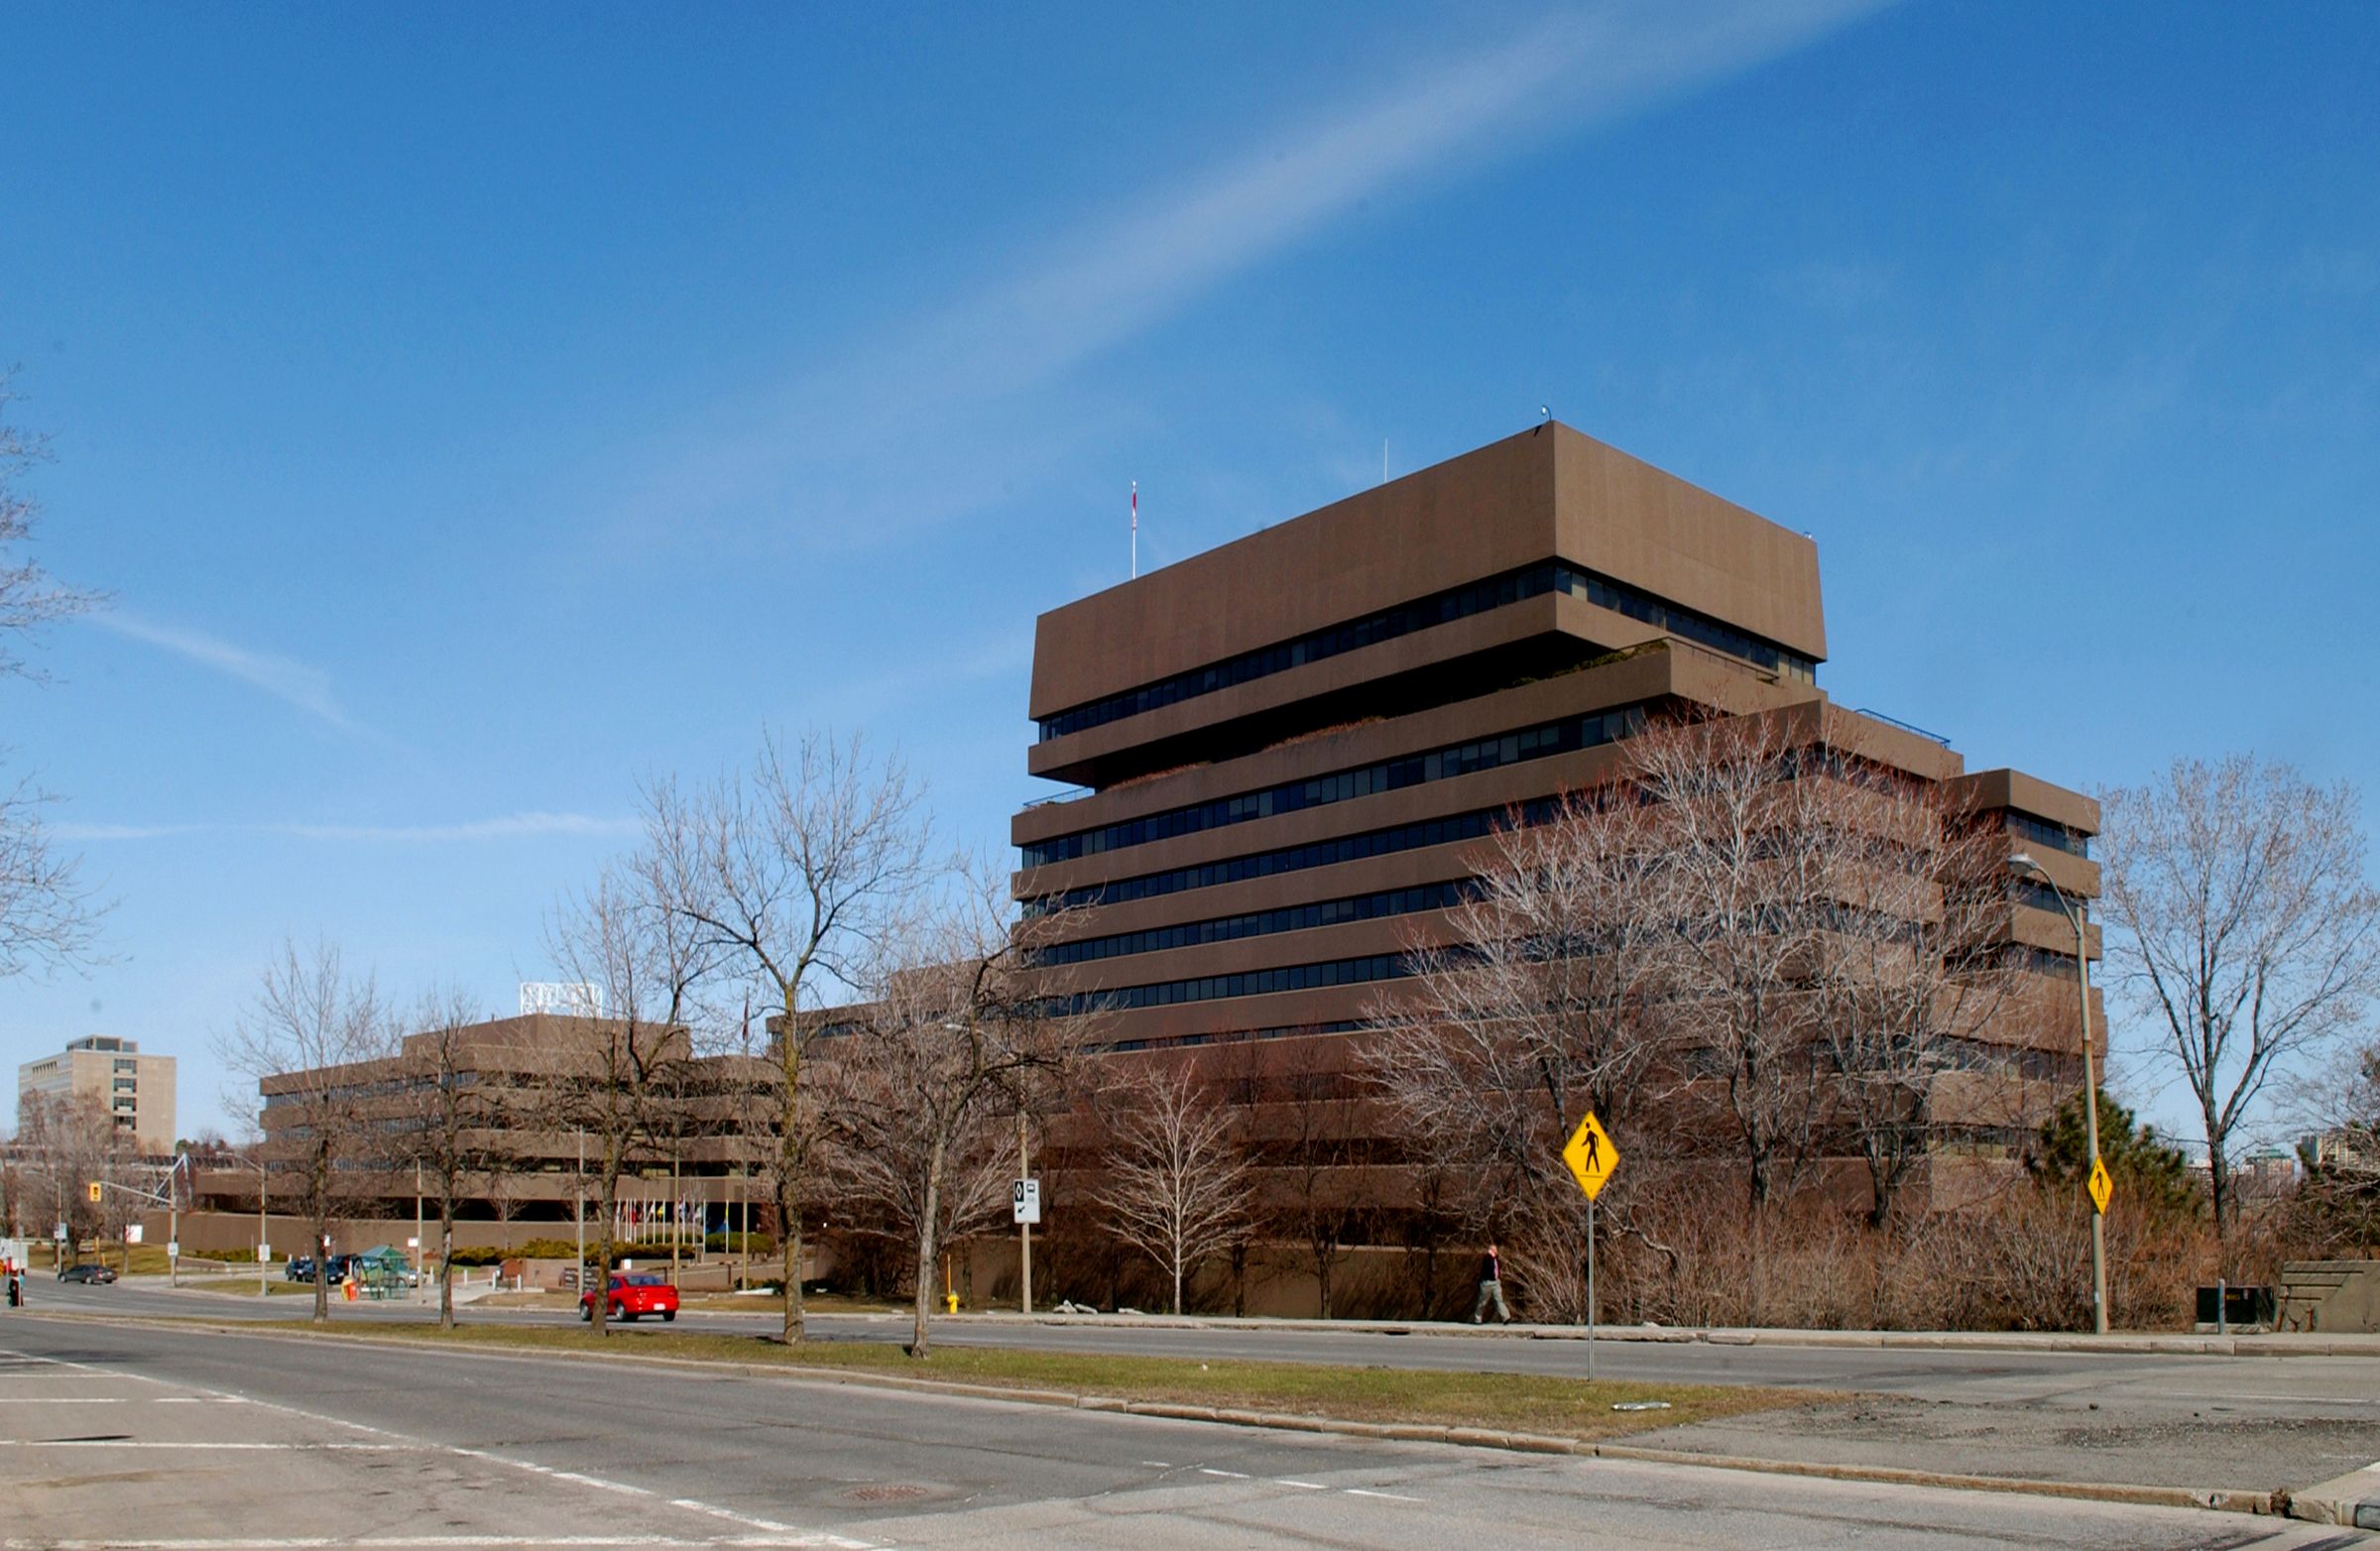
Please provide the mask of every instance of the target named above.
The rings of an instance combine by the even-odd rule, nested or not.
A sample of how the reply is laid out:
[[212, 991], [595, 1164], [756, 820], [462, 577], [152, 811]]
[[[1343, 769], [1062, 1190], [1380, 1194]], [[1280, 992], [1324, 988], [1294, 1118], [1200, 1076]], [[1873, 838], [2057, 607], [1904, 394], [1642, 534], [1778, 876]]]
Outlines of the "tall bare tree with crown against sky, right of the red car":
[[[802, 1213], [812, 1204], [812, 1151], [823, 1123], [804, 1059], [833, 985], [864, 980], [869, 954], [912, 904], [926, 871], [919, 790], [897, 756], [873, 759], [859, 737], [807, 735], [790, 752], [764, 737], [754, 766], [697, 799], [674, 783], [647, 790], [657, 835], [685, 837], [693, 866], [674, 909], [704, 942], [740, 961], [774, 1006], [778, 1066], [776, 1187], [783, 1251], [783, 1339], [802, 1339]], [[676, 840], [671, 840], [676, 844]]]

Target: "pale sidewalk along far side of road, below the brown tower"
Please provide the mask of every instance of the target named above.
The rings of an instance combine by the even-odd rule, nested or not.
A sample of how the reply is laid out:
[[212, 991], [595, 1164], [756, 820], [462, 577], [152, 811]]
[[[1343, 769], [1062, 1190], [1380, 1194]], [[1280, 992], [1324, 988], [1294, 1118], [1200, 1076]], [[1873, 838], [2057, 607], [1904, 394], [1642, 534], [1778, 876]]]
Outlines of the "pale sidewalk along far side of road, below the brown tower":
[[[907, 1315], [902, 1315], [907, 1318]], [[945, 1318], [945, 1315], [935, 1315]], [[1585, 1325], [1468, 1325], [1461, 1320], [1235, 1320], [1171, 1313], [962, 1313], [978, 1325], [1104, 1325], [1130, 1330], [1297, 1330], [1328, 1335], [1435, 1335], [1468, 1339], [1583, 1342]], [[1754, 1330], [1711, 1325], [1597, 1325], [1597, 1342], [1704, 1342], [1711, 1346], [1868, 1346], [1914, 1351], [2102, 1351], [2154, 1356], [2370, 1356], [2380, 1335], [2180, 1335], [2066, 1330]]]

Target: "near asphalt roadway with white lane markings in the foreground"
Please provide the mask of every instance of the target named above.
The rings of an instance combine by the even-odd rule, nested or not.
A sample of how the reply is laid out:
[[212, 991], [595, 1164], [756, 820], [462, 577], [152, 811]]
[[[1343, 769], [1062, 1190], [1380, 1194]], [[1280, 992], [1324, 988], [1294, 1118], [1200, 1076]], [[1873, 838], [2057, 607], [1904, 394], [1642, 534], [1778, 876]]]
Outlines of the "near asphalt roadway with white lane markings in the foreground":
[[[55, 1301], [45, 1299], [45, 1306]], [[2187, 1508], [0, 1315], [0, 1544], [2351, 1546]]]

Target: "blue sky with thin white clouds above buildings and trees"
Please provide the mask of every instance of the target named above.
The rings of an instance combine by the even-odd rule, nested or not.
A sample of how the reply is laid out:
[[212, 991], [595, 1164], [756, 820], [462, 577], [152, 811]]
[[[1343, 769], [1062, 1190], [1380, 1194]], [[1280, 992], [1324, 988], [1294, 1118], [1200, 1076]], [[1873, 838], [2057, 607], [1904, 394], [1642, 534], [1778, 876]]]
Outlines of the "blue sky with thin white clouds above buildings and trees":
[[14, 7], [0, 685], [119, 902], [0, 1061], [283, 935], [495, 1009], [640, 776], [864, 728], [995, 847], [1033, 614], [1537, 404], [1811, 530], [1842, 704], [2380, 768], [2368, 5]]

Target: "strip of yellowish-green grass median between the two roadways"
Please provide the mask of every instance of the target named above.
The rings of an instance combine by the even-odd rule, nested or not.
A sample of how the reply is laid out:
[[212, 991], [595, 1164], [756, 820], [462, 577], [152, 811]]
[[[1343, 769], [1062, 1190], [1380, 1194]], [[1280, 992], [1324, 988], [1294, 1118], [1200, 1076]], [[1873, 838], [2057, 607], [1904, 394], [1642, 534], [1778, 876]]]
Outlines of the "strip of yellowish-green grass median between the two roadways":
[[[312, 1332], [312, 1325], [290, 1330]], [[1216, 1358], [1097, 1356], [1026, 1351], [1016, 1346], [933, 1349], [912, 1358], [895, 1342], [807, 1342], [785, 1346], [750, 1335], [695, 1335], [457, 1325], [338, 1325], [331, 1335], [381, 1342], [436, 1342], [507, 1351], [562, 1351], [581, 1356], [666, 1356], [681, 1361], [745, 1363], [788, 1373], [823, 1370], [845, 1377], [907, 1377], [985, 1384], [995, 1389], [1054, 1389], [1114, 1401], [1211, 1406], [1216, 1411], [1271, 1411], [1347, 1423], [1404, 1423], [1423, 1427], [1488, 1427], [1571, 1439], [1611, 1439], [1652, 1427], [1680, 1427], [1749, 1411], [1840, 1401], [1806, 1389], [1759, 1389], [1749, 1384], [1640, 1384], [1623, 1380], [1568, 1380], [1530, 1373], [1438, 1373], [1416, 1368], [1349, 1368], [1321, 1363], [1266, 1363]], [[1635, 1408], [1661, 1401], [1664, 1408]], [[1630, 1411], [1614, 1411], [1630, 1406]]]

